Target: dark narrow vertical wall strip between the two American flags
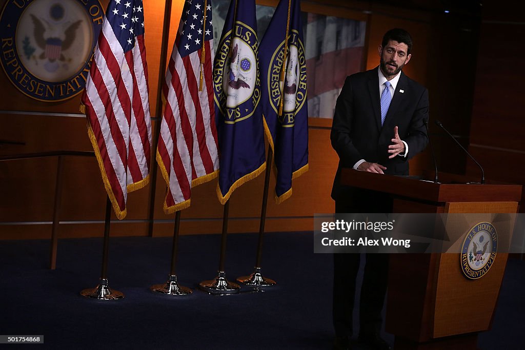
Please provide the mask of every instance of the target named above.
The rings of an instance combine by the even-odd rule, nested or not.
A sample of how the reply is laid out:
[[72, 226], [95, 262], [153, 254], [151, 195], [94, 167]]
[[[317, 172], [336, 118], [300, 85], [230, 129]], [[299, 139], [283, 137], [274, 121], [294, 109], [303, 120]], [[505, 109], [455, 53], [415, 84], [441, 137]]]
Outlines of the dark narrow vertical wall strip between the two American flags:
[[[156, 145], [159, 140], [159, 134], [161, 132], [161, 123], [162, 123], [162, 86], [164, 84], [164, 79], [166, 76], [166, 60], [167, 60], [167, 44], [170, 37], [170, 19], [171, 19], [171, 1], [166, 0], [166, 5], [164, 6], [164, 22], [162, 28], [162, 43], [161, 43], [161, 59], [159, 65], [159, 81], [157, 83], [157, 101], [155, 105], [155, 114], [159, 115], [158, 121], [155, 123], [155, 130], [153, 132], [152, 144]], [[148, 235], [153, 237], [153, 217], [155, 213], [155, 190], [157, 184], [157, 162], [155, 162], [155, 152], [156, 147], [152, 147], [153, 157], [151, 164], [151, 190], [150, 190], [150, 209], [148, 214]]]

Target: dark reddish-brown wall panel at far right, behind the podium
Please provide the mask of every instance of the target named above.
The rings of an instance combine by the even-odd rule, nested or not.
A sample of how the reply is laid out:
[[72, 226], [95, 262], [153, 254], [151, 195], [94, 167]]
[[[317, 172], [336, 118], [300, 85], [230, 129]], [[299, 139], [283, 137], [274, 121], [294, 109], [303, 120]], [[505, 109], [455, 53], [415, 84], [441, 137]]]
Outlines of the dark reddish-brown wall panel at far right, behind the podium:
[[[485, 169], [485, 177], [525, 184], [525, 119], [520, 96], [520, 59], [525, 34], [523, 2], [483, 3], [469, 151]], [[467, 161], [467, 174], [479, 168]], [[525, 191], [522, 202], [525, 200]], [[523, 205], [520, 211], [525, 212]]]

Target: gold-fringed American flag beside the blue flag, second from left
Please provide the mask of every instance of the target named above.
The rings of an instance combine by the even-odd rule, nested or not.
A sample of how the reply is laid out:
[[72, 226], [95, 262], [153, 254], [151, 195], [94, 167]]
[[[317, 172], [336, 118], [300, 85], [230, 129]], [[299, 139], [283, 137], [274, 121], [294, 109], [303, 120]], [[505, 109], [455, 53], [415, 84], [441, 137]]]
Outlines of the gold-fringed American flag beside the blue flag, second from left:
[[184, 3], [163, 86], [157, 162], [168, 185], [166, 214], [190, 206], [192, 186], [217, 176], [211, 0]]

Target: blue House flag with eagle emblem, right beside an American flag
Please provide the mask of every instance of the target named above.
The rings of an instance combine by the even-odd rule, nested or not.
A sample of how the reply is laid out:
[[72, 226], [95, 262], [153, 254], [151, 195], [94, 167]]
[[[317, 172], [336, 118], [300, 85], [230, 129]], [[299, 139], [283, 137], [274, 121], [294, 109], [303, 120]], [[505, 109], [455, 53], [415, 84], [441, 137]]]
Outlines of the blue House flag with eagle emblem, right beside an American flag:
[[222, 204], [266, 168], [256, 26], [255, 0], [232, 0], [213, 72]]

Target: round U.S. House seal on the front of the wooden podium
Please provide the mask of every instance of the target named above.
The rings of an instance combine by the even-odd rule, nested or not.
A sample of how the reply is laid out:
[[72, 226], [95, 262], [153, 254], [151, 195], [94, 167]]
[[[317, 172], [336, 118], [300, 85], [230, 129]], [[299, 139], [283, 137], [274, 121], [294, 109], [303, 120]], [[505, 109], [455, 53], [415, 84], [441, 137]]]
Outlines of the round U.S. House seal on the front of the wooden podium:
[[490, 222], [472, 227], [461, 246], [461, 270], [468, 279], [477, 280], [487, 273], [496, 258], [498, 234]]

